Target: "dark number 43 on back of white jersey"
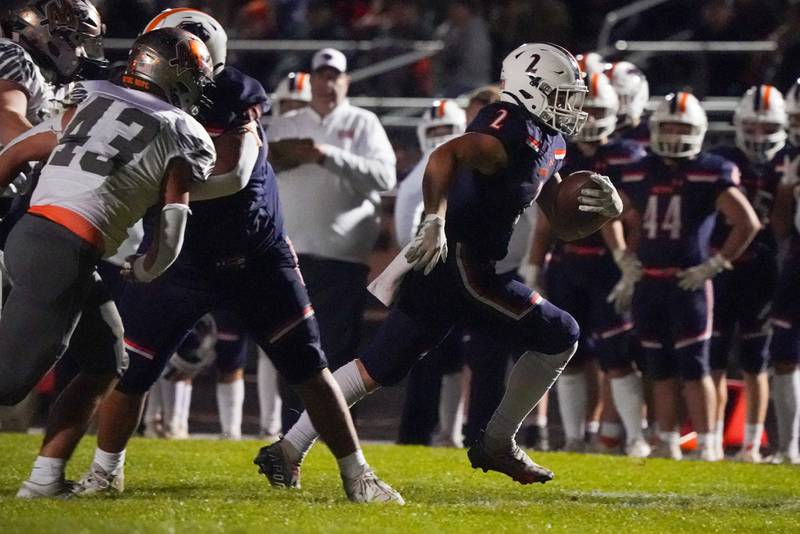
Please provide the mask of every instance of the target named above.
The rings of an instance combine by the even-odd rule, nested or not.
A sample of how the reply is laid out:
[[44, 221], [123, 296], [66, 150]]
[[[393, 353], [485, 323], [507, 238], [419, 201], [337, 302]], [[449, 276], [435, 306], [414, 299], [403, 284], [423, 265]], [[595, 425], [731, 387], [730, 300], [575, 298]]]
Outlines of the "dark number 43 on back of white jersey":
[[[100, 122], [108, 108], [113, 104], [113, 100], [105, 97], [98, 97], [77, 115], [69, 123], [69, 127], [64, 132], [60, 147], [53, 153], [50, 159], [51, 165], [69, 167], [75, 159], [75, 151], [89, 140], [89, 132]], [[127, 165], [136, 157], [136, 154], [144, 150], [150, 141], [158, 133], [161, 123], [158, 119], [151, 117], [140, 109], [125, 108], [114, 119], [126, 126], [134, 124], [141, 126], [141, 130], [131, 139], [121, 135], [116, 136], [109, 142], [109, 146], [117, 150], [117, 154], [111, 158], [106, 158], [96, 152], [87, 151], [80, 159], [81, 170], [108, 176], [114, 170], [114, 166]]]

